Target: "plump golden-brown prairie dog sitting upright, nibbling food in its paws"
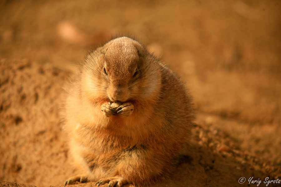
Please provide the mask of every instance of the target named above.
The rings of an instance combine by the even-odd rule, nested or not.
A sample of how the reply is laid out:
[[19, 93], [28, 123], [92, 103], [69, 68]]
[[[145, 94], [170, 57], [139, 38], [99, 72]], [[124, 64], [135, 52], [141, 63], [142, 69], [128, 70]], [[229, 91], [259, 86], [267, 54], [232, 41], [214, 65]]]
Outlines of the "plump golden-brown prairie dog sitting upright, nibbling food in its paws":
[[138, 41], [119, 37], [87, 55], [68, 89], [65, 130], [85, 174], [65, 182], [147, 185], [177, 163], [194, 120], [180, 79]]

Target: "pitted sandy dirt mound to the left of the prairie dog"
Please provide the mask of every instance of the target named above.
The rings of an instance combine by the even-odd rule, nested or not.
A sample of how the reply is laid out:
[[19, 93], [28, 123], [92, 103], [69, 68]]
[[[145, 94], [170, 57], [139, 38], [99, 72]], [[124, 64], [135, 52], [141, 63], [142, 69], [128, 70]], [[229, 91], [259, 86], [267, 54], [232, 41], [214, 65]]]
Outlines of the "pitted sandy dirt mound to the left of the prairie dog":
[[48, 65], [4, 59], [0, 72], [0, 179], [63, 184], [72, 172], [59, 117], [67, 74]]

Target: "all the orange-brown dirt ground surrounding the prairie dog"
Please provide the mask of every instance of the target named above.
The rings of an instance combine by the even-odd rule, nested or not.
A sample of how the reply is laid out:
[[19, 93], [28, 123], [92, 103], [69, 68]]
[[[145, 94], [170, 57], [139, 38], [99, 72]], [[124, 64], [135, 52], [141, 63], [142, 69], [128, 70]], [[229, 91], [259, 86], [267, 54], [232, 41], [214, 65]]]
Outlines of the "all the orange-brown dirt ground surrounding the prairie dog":
[[62, 87], [118, 33], [147, 44], [197, 105], [188, 157], [153, 186], [281, 179], [280, 0], [2, 0], [1, 186], [61, 186], [79, 174], [62, 132]]

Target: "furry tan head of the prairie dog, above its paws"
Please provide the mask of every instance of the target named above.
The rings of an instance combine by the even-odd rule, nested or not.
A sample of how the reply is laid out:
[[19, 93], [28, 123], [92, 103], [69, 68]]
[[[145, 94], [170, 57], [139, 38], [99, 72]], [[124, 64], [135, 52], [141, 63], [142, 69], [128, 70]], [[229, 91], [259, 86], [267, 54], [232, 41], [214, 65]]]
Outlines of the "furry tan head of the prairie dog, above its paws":
[[81, 69], [82, 91], [93, 100], [148, 99], [159, 91], [159, 67], [139, 42], [116, 38], [87, 56]]

